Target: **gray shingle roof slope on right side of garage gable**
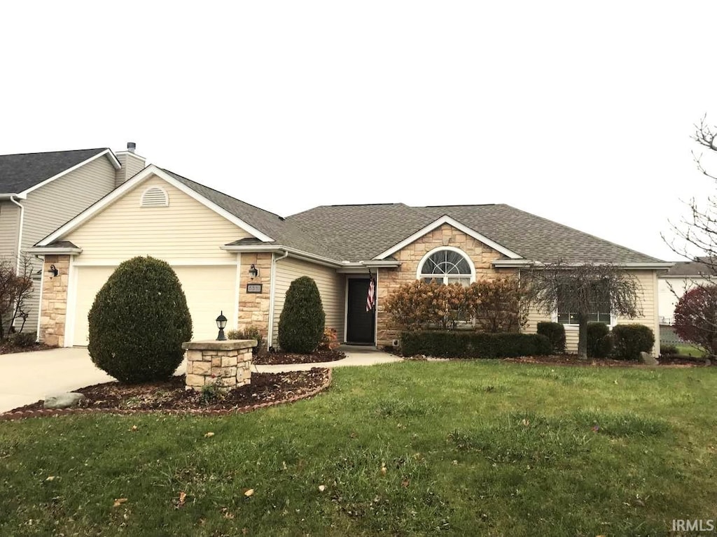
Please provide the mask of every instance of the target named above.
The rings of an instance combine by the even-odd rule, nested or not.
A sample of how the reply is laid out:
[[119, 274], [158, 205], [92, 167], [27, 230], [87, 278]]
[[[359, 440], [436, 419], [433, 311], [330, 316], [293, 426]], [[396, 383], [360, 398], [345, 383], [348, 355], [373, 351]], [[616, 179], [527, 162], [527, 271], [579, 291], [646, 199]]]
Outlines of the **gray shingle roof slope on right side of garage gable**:
[[[262, 233], [270, 236], [274, 239], [274, 243], [281, 246], [289, 246], [290, 248], [297, 248], [298, 250], [305, 251], [308, 253], [314, 253], [318, 256], [328, 257], [337, 259], [331, 251], [322, 246], [307, 233], [303, 233], [296, 226], [285, 221], [281, 216], [265, 211], [244, 203], [242, 200], [232, 198], [232, 196], [214, 190], [208, 186], [196, 183], [191, 179], [177, 175], [170, 170], [164, 170], [174, 179], [178, 180], [183, 185], [194, 190], [208, 199], [212, 203], [219, 205], [224, 211], [232, 213], [240, 220], [246, 222], [250, 226], [257, 228]], [[237, 241], [238, 242], [238, 241]], [[232, 243], [233, 244], [233, 243]]]

